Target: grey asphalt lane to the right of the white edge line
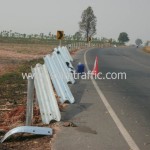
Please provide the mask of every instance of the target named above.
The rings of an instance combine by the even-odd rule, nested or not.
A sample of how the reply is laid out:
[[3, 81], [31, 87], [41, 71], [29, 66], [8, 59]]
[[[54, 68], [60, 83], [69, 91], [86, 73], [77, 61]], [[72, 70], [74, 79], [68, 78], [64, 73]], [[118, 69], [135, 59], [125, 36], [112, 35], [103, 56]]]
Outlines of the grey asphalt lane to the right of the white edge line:
[[86, 54], [89, 69], [96, 56], [104, 76], [126, 72], [126, 80], [96, 83], [139, 149], [150, 150], [150, 54], [134, 47], [92, 49]]

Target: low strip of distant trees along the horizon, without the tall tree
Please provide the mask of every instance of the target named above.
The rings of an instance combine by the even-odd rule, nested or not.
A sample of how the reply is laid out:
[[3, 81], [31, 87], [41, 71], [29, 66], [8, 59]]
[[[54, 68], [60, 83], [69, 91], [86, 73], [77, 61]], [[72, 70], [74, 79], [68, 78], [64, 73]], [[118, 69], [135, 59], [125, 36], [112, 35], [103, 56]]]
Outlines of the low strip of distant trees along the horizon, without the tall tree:
[[[62, 42], [66, 44], [70, 44], [72, 42], [86, 42], [87, 39], [80, 31], [77, 31], [74, 35], [64, 35], [64, 40]], [[1, 31], [0, 32], [0, 42], [1, 43], [58, 43], [59, 41], [56, 39], [56, 35], [51, 34], [49, 32], [47, 35], [44, 33], [40, 34], [25, 34], [9, 31]], [[110, 44], [118, 44], [118, 42], [114, 39], [108, 39], [105, 37], [92, 37], [92, 43], [110, 43]]]

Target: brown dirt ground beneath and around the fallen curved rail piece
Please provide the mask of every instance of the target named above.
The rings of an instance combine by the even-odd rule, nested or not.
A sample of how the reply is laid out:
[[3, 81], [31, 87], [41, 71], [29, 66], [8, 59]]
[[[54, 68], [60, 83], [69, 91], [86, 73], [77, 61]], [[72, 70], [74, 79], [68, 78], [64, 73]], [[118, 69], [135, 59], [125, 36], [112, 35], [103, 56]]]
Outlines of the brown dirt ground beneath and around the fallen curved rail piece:
[[[21, 124], [18, 126], [21, 126]], [[36, 124], [35, 126], [41, 127], [42, 125]], [[56, 133], [60, 131], [60, 125], [58, 123], [55, 123], [44, 127], [52, 128], [53, 135], [43, 136], [25, 133], [15, 134], [9, 137], [9, 139], [7, 139], [4, 143], [0, 144], [0, 150], [52, 150], [52, 142], [55, 139]]]

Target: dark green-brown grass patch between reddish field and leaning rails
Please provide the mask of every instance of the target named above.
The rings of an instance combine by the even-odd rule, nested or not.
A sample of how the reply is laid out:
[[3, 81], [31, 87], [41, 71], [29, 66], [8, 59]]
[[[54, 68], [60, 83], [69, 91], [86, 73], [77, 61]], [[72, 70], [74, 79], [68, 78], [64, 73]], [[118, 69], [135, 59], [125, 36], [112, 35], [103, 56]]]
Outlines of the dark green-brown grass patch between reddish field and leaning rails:
[[15, 71], [0, 76], [0, 105], [6, 102], [21, 104], [27, 96], [27, 80], [23, 80], [22, 73], [31, 72], [31, 66], [43, 64], [43, 59], [34, 59], [21, 64]]

